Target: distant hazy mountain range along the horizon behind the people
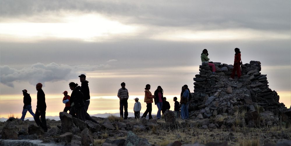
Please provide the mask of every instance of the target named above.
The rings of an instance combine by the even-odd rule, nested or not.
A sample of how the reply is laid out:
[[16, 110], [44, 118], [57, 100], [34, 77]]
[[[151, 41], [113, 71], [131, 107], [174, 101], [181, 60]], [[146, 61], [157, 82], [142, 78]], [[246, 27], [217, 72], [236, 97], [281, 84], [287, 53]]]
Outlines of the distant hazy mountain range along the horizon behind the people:
[[[140, 113], [140, 116], [142, 116], [143, 113]], [[90, 116], [94, 116], [94, 117], [100, 117], [100, 118], [107, 118], [108, 116], [110, 115], [114, 115], [114, 116], [117, 116], [119, 117], [119, 113], [97, 113], [97, 114], [94, 114], [94, 115], [90, 115]], [[152, 116], [156, 116], [156, 114], [152, 114]], [[134, 113], [132, 112], [128, 112], [128, 117], [134, 117]], [[46, 116], [47, 119], [50, 119], [50, 120], [60, 120], [60, 117], [59, 116]], [[148, 118], [148, 116], [147, 116]], [[8, 118], [0, 118], [0, 122], [5, 122], [7, 121]], [[24, 118], [24, 120], [30, 120], [30, 121], [34, 121], [33, 117], [29, 117], [29, 118]]]

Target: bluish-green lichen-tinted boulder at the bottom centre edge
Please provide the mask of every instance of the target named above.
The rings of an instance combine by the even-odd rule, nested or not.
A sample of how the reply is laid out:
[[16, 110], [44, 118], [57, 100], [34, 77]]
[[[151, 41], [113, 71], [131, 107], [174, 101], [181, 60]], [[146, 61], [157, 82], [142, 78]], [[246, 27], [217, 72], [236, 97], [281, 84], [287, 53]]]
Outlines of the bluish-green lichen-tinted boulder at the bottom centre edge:
[[132, 131], [128, 131], [125, 143], [125, 146], [134, 146], [134, 145], [150, 145], [147, 139], [143, 139], [135, 135]]

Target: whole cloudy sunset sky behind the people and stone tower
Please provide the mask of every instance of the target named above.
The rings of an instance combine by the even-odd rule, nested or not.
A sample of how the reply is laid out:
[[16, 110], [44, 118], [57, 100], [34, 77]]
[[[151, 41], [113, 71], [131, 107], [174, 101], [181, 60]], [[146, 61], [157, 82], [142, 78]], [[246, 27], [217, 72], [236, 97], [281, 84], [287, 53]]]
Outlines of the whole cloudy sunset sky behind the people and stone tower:
[[90, 114], [119, 111], [121, 82], [130, 99], [143, 98], [146, 84], [170, 99], [184, 84], [193, 92], [204, 48], [213, 62], [232, 64], [234, 48], [243, 63], [260, 61], [269, 88], [291, 105], [291, 1], [1, 0], [0, 8], [0, 117], [21, 116], [23, 89], [34, 111], [38, 82], [47, 115], [58, 115], [80, 74]]

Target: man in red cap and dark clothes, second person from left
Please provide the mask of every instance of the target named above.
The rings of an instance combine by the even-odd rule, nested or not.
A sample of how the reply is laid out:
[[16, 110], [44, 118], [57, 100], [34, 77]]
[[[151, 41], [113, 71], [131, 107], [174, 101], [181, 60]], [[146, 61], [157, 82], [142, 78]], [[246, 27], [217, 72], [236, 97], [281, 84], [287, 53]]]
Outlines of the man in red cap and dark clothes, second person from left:
[[[36, 104], [36, 111], [34, 115], [34, 121], [36, 124], [41, 127], [45, 132], [47, 131], [47, 121], [45, 120], [45, 110], [47, 105], [45, 104], [45, 93], [43, 92], [43, 84], [37, 83], [36, 84], [36, 91], [37, 91], [37, 104]], [[39, 120], [39, 116], [41, 122]]]

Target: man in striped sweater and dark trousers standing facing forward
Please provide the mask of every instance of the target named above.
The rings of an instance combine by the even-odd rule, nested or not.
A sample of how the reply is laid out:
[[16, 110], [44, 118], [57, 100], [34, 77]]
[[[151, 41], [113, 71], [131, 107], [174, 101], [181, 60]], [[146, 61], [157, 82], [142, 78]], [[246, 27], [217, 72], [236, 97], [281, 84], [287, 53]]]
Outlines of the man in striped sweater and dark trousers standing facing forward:
[[[120, 117], [124, 117], [124, 120], [127, 119], [128, 112], [128, 90], [125, 88], [125, 83], [121, 83], [121, 88], [118, 90], [117, 97], [119, 98], [119, 110], [120, 110]], [[123, 116], [123, 107], [124, 107], [124, 116]]]

